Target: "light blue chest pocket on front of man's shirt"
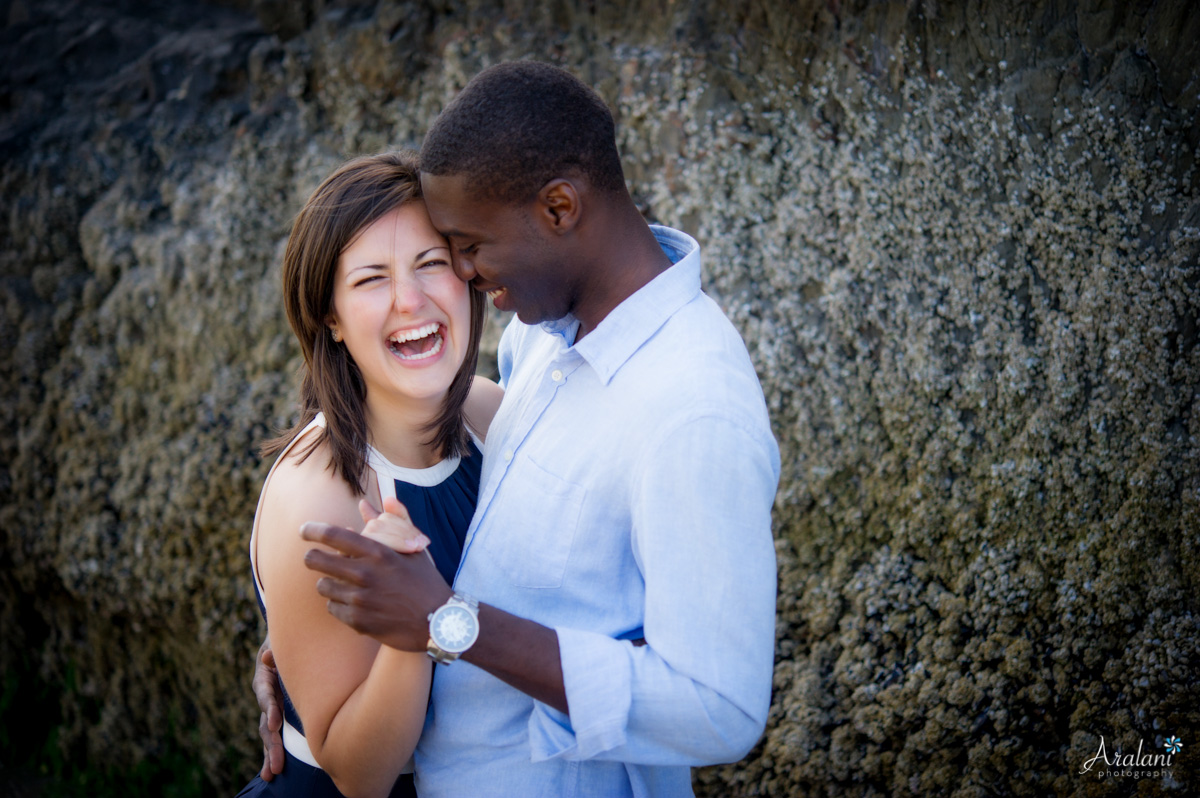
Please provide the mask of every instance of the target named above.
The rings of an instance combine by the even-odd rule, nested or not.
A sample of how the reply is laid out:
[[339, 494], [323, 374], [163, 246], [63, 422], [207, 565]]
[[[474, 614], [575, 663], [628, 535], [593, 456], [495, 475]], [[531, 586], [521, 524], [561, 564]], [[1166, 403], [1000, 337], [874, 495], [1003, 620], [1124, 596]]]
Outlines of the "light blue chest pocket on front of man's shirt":
[[515, 587], [563, 584], [586, 496], [528, 457], [514, 463], [496, 497], [487, 548]]

